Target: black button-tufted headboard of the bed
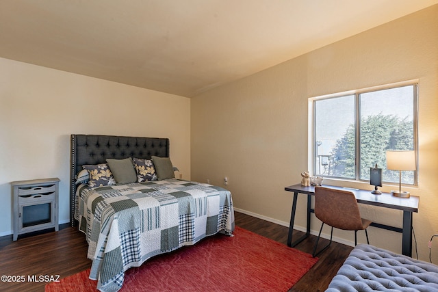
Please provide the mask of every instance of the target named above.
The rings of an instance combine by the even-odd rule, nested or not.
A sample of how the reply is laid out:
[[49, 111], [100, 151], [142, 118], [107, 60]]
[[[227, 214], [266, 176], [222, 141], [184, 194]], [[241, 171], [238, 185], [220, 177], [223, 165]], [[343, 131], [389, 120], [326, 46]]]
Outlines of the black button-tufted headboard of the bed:
[[71, 135], [70, 224], [75, 224], [76, 174], [84, 164], [105, 163], [107, 158], [169, 157], [168, 138], [109, 135]]

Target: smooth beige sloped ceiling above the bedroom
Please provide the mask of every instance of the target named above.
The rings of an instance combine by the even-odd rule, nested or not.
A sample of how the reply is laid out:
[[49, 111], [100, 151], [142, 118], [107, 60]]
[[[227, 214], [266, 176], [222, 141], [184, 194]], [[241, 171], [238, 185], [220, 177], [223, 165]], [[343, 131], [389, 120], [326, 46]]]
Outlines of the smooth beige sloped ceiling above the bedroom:
[[0, 57], [192, 97], [438, 0], [1, 0]]

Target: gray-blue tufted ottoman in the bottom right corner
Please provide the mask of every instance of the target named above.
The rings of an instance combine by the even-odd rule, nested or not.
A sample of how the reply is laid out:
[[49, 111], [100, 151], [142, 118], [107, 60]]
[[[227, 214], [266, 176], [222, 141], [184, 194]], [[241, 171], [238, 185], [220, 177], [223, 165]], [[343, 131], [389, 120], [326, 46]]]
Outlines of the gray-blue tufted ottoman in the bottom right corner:
[[326, 291], [438, 291], [438, 266], [360, 244]]

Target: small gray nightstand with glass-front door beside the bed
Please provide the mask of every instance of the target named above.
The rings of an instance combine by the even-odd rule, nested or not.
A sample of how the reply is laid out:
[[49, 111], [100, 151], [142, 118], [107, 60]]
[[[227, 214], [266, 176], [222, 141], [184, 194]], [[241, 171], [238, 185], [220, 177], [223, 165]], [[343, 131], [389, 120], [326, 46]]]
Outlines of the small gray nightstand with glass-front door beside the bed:
[[14, 241], [18, 235], [58, 227], [59, 178], [13, 181]]

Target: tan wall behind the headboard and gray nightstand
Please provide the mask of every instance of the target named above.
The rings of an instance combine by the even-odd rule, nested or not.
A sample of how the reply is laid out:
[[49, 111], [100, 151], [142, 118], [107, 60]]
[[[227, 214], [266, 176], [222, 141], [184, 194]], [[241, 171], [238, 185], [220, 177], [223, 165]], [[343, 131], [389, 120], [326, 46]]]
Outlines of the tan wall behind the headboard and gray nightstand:
[[12, 233], [10, 181], [59, 177], [68, 222], [72, 133], [168, 137], [190, 178], [189, 98], [0, 58], [0, 236]]

